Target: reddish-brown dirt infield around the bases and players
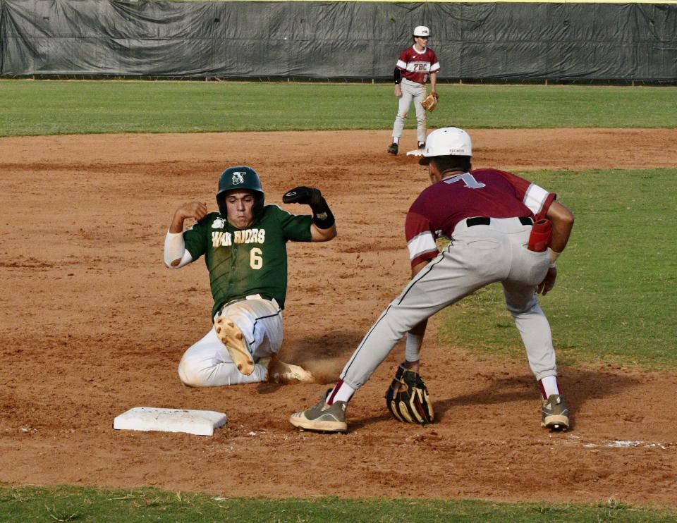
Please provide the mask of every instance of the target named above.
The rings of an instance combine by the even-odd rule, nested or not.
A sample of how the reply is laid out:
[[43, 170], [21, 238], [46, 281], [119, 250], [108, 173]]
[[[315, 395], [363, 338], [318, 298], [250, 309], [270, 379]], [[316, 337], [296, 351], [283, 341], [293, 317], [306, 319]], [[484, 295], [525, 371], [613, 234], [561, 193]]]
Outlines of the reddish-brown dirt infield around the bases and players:
[[[677, 165], [676, 130], [471, 134], [476, 167]], [[209, 329], [212, 302], [202, 262], [162, 264], [173, 210], [191, 199], [213, 210], [218, 176], [234, 164], [257, 168], [269, 203], [295, 185], [322, 188], [339, 235], [288, 247], [282, 355], [331, 381], [408, 278], [403, 222], [427, 176], [415, 159], [385, 153], [389, 135], [0, 139], [0, 481], [677, 505], [674, 373], [563, 367], [575, 426], [550, 434], [539, 426], [526, 361], [435, 346], [433, 319], [422, 372], [439, 422], [425, 428], [398, 424], [385, 409], [401, 347], [350, 402], [346, 435], [287, 422], [323, 385], [181, 384], [178, 361]], [[401, 147], [414, 140], [408, 131]], [[112, 429], [117, 414], [140, 405], [219, 410], [228, 425], [211, 438]]]

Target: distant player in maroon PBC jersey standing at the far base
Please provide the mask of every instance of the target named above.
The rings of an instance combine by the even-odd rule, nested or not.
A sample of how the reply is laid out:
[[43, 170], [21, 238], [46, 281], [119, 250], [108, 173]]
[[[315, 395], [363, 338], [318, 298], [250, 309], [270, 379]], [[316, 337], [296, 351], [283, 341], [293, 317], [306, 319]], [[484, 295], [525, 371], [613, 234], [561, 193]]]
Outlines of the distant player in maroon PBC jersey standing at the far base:
[[427, 82], [428, 77], [430, 77], [432, 94], [437, 98], [435, 86], [437, 85], [439, 62], [432, 49], [427, 47], [430, 30], [425, 25], [419, 25], [414, 29], [413, 37], [413, 46], [402, 51], [395, 66], [395, 96], [400, 99], [400, 104], [393, 125], [393, 143], [388, 147], [390, 154], [397, 154], [404, 122], [407, 119], [412, 100], [414, 109], [416, 109], [418, 148], [422, 149], [425, 145], [425, 109], [421, 106], [421, 102], [426, 97], [425, 82]]

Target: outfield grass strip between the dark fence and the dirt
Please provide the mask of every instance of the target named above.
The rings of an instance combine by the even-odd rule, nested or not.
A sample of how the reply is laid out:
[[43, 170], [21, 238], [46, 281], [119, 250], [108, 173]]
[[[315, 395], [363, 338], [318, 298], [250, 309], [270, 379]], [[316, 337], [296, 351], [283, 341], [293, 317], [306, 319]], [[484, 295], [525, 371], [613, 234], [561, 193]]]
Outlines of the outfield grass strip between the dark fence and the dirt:
[[[675, 87], [443, 84], [438, 91], [430, 128], [677, 126]], [[390, 129], [393, 92], [390, 84], [0, 80], [0, 136]]]

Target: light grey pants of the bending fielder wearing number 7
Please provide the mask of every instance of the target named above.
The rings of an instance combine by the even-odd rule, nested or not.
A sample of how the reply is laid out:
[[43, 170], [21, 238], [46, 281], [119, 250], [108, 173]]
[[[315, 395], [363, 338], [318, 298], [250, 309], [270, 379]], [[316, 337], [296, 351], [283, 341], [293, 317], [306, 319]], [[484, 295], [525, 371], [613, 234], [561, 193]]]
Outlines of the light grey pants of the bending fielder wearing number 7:
[[535, 293], [548, 271], [549, 257], [547, 252], [526, 248], [530, 231], [530, 225], [516, 218], [492, 218], [488, 226], [458, 223], [446, 249], [408, 283], [370, 328], [341, 379], [360, 388], [410, 328], [497, 281], [503, 284], [508, 311], [536, 379], [556, 376], [550, 326]]

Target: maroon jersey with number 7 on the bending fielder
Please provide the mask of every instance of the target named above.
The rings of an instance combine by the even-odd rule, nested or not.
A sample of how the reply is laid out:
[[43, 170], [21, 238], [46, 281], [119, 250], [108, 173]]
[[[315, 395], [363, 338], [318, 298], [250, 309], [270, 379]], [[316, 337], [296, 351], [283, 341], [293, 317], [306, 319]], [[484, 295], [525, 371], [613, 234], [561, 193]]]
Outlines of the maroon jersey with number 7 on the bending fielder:
[[435, 240], [451, 238], [459, 221], [472, 216], [544, 218], [557, 197], [524, 178], [498, 169], [476, 169], [427, 187], [407, 213], [405, 235], [415, 266], [437, 257]]

